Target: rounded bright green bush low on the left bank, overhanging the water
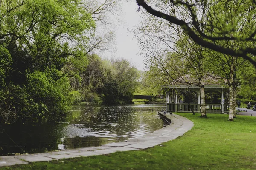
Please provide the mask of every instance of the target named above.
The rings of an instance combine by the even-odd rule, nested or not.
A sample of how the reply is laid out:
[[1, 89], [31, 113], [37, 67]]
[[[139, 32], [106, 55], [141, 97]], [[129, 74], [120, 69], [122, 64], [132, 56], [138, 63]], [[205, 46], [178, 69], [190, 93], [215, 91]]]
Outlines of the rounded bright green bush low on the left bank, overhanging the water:
[[[56, 70], [34, 71], [27, 74], [26, 91], [29, 93], [31, 105], [35, 108], [34, 113], [39, 116], [44, 113], [54, 114], [67, 111], [70, 105], [68, 95], [70, 85], [67, 77], [58, 75], [60, 78], [55, 80], [51, 77], [52, 73], [61, 74]], [[30, 112], [30, 109], [27, 111]]]

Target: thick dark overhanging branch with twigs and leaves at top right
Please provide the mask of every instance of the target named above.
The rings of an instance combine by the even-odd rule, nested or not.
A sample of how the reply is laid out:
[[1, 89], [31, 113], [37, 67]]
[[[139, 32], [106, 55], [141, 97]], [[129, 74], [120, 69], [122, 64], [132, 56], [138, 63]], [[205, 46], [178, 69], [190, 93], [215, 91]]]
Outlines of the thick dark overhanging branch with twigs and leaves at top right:
[[[247, 43], [256, 41], [256, 20], [254, 19], [256, 15], [256, 2], [254, 0], [239, 0], [236, 3], [230, 0], [136, 1], [139, 6], [142, 6], [150, 14], [167, 20], [171, 24], [180, 26], [183, 32], [198, 45], [230, 56], [242, 57], [256, 67], [256, 60], [254, 57], [251, 57], [252, 55], [256, 55], [256, 49], [253, 44]], [[232, 4], [235, 6], [232, 6]], [[233, 13], [233, 11], [230, 11], [230, 5], [238, 12]], [[180, 15], [173, 15], [172, 13], [166, 12], [169, 6], [175, 6], [177, 13], [181, 16], [187, 14], [188, 17], [184, 18], [180, 17]], [[211, 10], [214, 8], [218, 8], [218, 12]], [[208, 22], [202, 22], [200, 20], [202, 11], [206, 12], [206, 20]], [[233, 23], [228, 22], [231, 16], [230, 14], [236, 15], [236, 21]], [[243, 34], [235, 34], [235, 32], [241, 31], [241, 25], [244, 25]], [[240, 45], [239, 48], [234, 49], [216, 44], [214, 43], [215, 41], [235, 41]]]

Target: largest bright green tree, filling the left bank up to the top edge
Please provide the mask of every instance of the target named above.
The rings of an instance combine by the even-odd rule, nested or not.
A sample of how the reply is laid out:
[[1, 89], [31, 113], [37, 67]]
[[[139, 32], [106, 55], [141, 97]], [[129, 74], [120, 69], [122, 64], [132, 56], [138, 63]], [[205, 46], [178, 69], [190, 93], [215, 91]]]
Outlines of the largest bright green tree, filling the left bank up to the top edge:
[[8, 76], [2, 83], [2, 117], [10, 112], [29, 116], [67, 109], [69, 82], [60, 70], [71, 56], [86, 55], [82, 44], [95, 28], [83, 4], [80, 0], [0, 2], [0, 52], [11, 56], [4, 65]]

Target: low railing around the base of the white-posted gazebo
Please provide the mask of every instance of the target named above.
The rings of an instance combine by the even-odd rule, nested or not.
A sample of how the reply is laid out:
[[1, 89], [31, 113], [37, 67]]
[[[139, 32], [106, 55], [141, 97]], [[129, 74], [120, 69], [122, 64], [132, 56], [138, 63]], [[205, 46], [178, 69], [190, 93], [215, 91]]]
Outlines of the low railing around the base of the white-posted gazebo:
[[[200, 112], [201, 104], [190, 103], [190, 107], [194, 112]], [[192, 113], [188, 103], [167, 103], [167, 111], [170, 112], [189, 112]], [[206, 113], [222, 113], [222, 104], [215, 103], [205, 105]], [[229, 105], [224, 104], [224, 113], [228, 113]]]

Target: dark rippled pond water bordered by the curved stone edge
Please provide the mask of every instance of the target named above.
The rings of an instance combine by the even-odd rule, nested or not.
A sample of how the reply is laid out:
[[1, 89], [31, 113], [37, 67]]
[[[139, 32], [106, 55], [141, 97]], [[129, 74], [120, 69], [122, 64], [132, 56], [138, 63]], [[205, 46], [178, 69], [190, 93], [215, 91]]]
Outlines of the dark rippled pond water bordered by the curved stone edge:
[[58, 121], [4, 125], [0, 156], [100, 146], [143, 136], [164, 126], [157, 111], [164, 105], [73, 106]]

